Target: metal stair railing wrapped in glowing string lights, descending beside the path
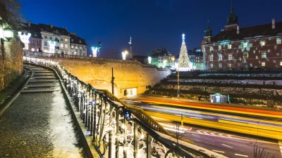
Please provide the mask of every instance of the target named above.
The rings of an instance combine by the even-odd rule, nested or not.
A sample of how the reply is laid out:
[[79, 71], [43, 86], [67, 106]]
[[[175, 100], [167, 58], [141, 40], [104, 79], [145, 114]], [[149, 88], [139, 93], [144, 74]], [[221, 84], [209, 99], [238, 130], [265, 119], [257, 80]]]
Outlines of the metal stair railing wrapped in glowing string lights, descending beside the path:
[[183, 150], [161, 137], [156, 131], [172, 135], [142, 109], [126, 105], [109, 91], [85, 84], [58, 62], [29, 57], [24, 60], [56, 70], [102, 157], [208, 157], [192, 148]]

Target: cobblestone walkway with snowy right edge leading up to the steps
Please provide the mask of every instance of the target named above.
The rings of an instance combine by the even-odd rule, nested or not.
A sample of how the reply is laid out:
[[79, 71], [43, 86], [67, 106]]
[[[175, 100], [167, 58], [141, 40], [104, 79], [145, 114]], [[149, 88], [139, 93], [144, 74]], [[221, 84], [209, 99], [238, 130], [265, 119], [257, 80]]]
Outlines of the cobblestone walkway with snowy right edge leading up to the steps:
[[56, 91], [26, 88], [0, 116], [0, 157], [83, 157], [59, 81], [50, 84]]

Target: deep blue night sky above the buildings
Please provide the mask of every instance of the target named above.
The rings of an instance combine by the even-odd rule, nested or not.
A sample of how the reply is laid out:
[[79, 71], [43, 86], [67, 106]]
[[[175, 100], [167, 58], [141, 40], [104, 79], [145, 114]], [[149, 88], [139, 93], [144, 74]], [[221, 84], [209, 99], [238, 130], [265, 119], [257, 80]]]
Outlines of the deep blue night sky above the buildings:
[[[240, 27], [282, 20], [281, 0], [233, 0]], [[86, 39], [88, 46], [102, 41], [102, 57], [130, 49], [149, 55], [155, 48], [167, 48], [177, 55], [181, 34], [188, 48], [201, 45], [207, 20], [213, 34], [226, 25], [231, 1], [216, 0], [23, 0], [23, 15], [32, 23], [68, 27]]]

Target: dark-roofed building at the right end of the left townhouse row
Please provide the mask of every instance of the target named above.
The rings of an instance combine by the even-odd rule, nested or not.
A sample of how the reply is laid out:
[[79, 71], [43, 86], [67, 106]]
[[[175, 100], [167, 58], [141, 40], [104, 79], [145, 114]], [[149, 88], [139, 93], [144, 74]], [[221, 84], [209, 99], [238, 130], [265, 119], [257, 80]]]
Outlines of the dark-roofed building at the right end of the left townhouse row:
[[85, 39], [76, 36], [76, 34], [72, 32], [70, 33], [70, 35], [71, 35], [71, 55], [87, 56], [87, 44]]

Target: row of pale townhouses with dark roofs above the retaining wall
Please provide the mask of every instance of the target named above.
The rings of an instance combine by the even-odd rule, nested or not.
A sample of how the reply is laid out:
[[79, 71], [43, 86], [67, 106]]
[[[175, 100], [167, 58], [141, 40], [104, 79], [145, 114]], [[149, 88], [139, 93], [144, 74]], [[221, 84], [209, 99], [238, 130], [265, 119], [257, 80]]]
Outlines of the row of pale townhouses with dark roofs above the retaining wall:
[[[45, 53], [87, 55], [85, 39], [68, 32], [66, 28], [54, 25], [23, 23], [23, 31], [18, 32], [25, 44], [24, 50]], [[30, 35], [27, 41], [27, 35]], [[71, 49], [73, 47], [73, 49]]]

